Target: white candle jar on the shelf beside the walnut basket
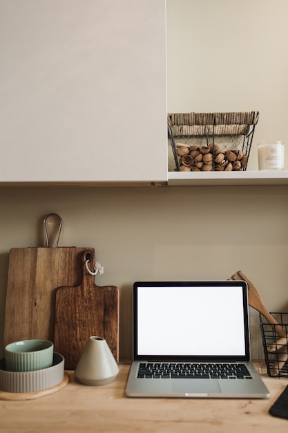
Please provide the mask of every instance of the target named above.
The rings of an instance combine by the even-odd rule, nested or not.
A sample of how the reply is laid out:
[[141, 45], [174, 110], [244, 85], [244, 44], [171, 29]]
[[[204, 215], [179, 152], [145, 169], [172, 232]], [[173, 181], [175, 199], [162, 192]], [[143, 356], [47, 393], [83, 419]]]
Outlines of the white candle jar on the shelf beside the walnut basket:
[[259, 143], [258, 167], [260, 170], [284, 170], [284, 143], [282, 141]]

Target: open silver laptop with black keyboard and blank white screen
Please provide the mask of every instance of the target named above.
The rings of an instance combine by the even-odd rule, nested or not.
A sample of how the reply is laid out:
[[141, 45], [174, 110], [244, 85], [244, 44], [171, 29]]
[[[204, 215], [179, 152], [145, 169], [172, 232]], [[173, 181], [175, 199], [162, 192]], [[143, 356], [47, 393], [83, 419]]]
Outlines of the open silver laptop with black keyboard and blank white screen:
[[135, 282], [128, 397], [269, 398], [250, 362], [247, 283]]

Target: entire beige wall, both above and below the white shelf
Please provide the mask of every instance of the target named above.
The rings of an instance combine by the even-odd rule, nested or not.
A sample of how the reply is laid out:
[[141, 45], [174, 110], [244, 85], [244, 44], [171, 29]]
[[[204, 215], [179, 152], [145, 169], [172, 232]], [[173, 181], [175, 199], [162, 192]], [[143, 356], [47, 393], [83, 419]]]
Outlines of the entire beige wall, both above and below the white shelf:
[[[288, 142], [287, 13], [286, 0], [168, 0], [168, 110], [260, 111], [249, 169], [258, 140]], [[38, 246], [50, 212], [64, 220], [59, 245], [95, 248], [97, 285], [120, 288], [122, 358], [132, 353], [137, 279], [226, 279], [242, 269], [270, 311], [288, 311], [287, 195], [284, 186], [0, 189], [0, 349], [9, 250]]]

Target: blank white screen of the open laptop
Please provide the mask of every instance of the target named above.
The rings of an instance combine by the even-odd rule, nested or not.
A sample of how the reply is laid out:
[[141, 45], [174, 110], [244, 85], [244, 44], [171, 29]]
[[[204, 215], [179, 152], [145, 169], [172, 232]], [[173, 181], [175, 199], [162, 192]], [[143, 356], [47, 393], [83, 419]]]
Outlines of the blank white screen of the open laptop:
[[137, 355], [245, 356], [244, 302], [242, 286], [139, 286]]

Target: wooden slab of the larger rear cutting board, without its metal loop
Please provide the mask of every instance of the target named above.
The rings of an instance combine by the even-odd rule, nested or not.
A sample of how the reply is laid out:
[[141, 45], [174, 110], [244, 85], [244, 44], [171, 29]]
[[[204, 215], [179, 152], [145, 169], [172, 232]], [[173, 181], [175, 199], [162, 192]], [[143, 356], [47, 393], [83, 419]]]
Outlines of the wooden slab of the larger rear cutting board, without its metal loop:
[[81, 283], [81, 257], [85, 250], [76, 247], [10, 250], [4, 347], [31, 338], [53, 341], [56, 288]]

